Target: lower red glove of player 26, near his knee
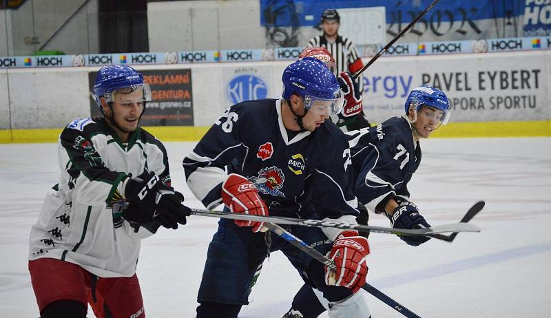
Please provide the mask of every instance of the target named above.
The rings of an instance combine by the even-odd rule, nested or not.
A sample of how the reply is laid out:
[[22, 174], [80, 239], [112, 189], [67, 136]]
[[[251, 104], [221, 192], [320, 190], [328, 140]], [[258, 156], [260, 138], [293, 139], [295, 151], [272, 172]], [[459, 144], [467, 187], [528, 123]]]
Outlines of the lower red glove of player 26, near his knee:
[[325, 266], [325, 284], [351, 288], [356, 293], [366, 284], [369, 254], [367, 239], [356, 231], [344, 231], [333, 242], [329, 258], [337, 265], [336, 273]]

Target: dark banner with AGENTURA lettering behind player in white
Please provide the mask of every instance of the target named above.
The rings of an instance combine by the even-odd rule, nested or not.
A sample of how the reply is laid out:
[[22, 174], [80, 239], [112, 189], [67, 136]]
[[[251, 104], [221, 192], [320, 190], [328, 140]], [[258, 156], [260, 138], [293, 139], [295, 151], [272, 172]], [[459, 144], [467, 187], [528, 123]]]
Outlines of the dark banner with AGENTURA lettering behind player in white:
[[[193, 95], [191, 70], [142, 71], [145, 83], [152, 89], [152, 101], [147, 102], [141, 126], [193, 126]], [[96, 72], [89, 74], [90, 92]], [[98, 105], [90, 98], [90, 113], [100, 116]]]

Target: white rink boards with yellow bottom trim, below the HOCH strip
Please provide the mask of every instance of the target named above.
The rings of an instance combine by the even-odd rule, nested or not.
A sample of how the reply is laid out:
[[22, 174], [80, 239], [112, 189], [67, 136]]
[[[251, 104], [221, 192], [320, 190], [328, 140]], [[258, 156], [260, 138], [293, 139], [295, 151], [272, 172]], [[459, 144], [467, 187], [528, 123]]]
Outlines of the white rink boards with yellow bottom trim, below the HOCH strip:
[[[194, 126], [146, 129], [161, 140], [198, 140], [236, 101], [278, 97], [289, 63], [136, 65], [137, 70], [191, 69]], [[88, 74], [97, 70], [0, 70], [0, 142], [55, 142], [67, 123], [90, 116]], [[408, 92], [428, 83], [452, 101], [451, 123], [435, 137], [551, 136], [550, 75], [550, 50], [388, 56], [364, 73], [364, 109], [372, 123], [400, 115]]]

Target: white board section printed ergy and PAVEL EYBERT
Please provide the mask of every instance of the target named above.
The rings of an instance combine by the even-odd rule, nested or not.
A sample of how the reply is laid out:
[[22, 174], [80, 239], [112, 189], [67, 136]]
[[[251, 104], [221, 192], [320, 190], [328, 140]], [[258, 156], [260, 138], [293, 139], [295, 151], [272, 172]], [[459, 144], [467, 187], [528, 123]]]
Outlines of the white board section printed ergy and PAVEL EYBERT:
[[364, 74], [364, 109], [374, 122], [402, 115], [408, 92], [428, 84], [448, 95], [452, 121], [545, 120], [544, 56], [517, 52], [377, 61]]

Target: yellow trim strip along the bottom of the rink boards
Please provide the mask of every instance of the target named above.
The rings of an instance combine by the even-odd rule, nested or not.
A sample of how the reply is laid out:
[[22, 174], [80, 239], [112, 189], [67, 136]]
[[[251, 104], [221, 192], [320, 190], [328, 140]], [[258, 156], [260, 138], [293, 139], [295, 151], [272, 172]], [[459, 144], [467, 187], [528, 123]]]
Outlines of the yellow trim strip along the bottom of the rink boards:
[[[162, 141], [197, 141], [209, 130], [200, 126], [143, 127]], [[57, 142], [62, 129], [0, 129], [0, 143]], [[551, 120], [449, 123], [430, 138], [550, 137]]]

